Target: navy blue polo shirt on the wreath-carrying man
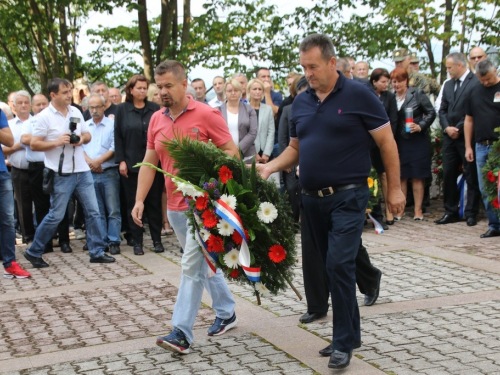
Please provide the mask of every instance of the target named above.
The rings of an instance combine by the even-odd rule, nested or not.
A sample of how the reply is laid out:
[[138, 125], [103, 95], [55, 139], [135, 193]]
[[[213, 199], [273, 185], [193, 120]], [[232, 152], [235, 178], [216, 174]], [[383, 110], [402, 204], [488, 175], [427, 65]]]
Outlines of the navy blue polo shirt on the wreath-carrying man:
[[339, 72], [333, 91], [320, 102], [313, 89], [292, 104], [290, 137], [298, 138], [300, 184], [307, 190], [366, 183], [370, 132], [390, 126], [377, 95]]

